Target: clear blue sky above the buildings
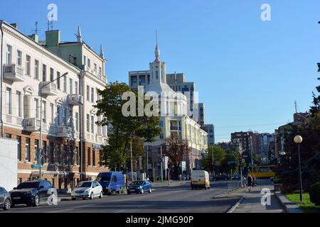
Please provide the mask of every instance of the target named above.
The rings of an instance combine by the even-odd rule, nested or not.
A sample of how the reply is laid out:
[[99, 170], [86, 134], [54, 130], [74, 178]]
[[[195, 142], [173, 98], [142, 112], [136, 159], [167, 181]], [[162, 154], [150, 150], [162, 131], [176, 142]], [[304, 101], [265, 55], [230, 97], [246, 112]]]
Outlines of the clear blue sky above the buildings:
[[[75, 40], [80, 25], [93, 49], [104, 45], [112, 82], [148, 70], [158, 29], [161, 60], [196, 82], [217, 142], [233, 131], [273, 132], [292, 121], [294, 100], [299, 111], [311, 105], [320, 77], [318, 0], [5, 1], [0, 19], [26, 34], [38, 21], [44, 39], [50, 3], [58, 6], [54, 29], [62, 40]], [[265, 3], [272, 21], [260, 20]]]

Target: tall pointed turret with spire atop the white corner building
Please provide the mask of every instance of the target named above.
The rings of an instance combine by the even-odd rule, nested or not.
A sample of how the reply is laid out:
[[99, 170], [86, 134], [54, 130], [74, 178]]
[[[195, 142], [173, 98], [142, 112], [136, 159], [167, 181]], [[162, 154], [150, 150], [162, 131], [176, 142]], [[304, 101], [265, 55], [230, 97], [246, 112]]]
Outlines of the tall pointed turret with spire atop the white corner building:
[[166, 63], [160, 60], [160, 50], [158, 45], [158, 31], [156, 31], [156, 48], [154, 50], [156, 59], [150, 63], [150, 82], [152, 83], [166, 83]]

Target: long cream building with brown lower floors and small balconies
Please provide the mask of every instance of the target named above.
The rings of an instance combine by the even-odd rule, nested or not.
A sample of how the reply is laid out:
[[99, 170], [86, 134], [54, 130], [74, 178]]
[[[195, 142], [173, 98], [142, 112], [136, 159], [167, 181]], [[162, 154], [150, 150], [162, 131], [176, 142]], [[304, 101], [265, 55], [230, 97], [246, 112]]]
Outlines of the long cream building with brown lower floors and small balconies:
[[107, 170], [100, 165], [107, 128], [95, 124], [99, 117], [93, 107], [97, 89], [107, 83], [102, 48], [98, 55], [83, 43], [80, 28], [73, 43], [60, 42], [60, 31], [47, 31], [46, 41], [39, 41], [4, 21], [0, 28], [1, 134], [18, 140], [12, 151], [18, 182], [38, 179], [41, 147], [41, 177], [58, 189], [72, 188], [80, 174], [87, 179]]

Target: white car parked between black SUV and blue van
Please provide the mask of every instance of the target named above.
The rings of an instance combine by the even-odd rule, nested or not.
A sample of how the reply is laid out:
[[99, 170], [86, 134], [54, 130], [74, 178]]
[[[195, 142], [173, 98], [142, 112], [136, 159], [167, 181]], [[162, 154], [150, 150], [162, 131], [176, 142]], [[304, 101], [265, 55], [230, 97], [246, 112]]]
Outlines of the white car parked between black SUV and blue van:
[[102, 198], [102, 186], [99, 182], [80, 182], [73, 192], [71, 192], [71, 199], [95, 199], [95, 197]]

